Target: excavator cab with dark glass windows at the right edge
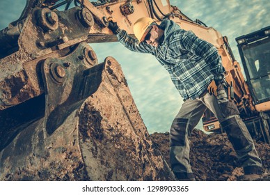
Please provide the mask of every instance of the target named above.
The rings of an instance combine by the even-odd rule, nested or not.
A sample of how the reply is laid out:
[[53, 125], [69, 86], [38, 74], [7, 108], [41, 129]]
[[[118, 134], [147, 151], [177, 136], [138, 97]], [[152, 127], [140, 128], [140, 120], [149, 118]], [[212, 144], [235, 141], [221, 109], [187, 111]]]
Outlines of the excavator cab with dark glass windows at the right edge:
[[[270, 105], [270, 26], [236, 38], [254, 104]], [[268, 108], [267, 108], [268, 106]], [[260, 111], [260, 110], [259, 110]]]

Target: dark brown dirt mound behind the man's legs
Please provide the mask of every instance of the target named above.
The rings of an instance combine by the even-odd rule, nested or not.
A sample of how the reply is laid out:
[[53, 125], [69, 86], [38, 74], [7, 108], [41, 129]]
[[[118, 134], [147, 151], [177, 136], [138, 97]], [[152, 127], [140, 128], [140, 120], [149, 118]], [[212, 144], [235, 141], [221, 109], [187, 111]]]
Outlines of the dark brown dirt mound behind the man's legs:
[[[169, 163], [169, 133], [151, 134], [152, 141], [159, 148], [161, 154]], [[196, 180], [241, 180], [244, 174], [236, 153], [225, 133], [205, 134], [200, 130], [193, 130], [190, 137], [190, 161]], [[259, 180], [270, 180], [270, 145], [255, 143], [263, 164], [263, 176]]]

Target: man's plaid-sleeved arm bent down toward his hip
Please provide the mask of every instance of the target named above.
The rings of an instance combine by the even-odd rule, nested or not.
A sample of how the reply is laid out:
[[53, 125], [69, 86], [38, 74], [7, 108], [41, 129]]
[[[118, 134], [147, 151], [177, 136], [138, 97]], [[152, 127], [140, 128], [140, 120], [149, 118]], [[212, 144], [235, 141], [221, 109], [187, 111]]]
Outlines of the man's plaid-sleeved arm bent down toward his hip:
[[214, 45], [198, 38], [191, 31], [178, 31], [174, 36], [180, 49], [192, 52], [205, 60], [211, 68], [215, 81], [223, 80], [225, 69]]

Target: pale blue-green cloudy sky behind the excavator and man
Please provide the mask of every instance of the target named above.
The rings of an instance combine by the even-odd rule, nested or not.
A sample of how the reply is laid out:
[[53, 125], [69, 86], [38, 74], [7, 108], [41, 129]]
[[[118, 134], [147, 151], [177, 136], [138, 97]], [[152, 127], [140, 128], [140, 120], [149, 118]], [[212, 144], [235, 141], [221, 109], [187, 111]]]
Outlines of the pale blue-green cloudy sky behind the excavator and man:
[[[26, 0], [10, 2], [0, 1], [0, 29], [19, 18]], [[170, 5], [177, 6], [191, 20], [199, 19], [227, 36], [240, 64], [235, 38], [270, 25], [269, 0], [170, 0]], [[113, 56], [120, 63], [148, 132], [168, 132], [183, 102], [168, 72], [153, 56], [130, 52], [119, 42], [90, 46], [99, 63], [106, 56]], [[201, 122], [197, 128], [202, 130]]]

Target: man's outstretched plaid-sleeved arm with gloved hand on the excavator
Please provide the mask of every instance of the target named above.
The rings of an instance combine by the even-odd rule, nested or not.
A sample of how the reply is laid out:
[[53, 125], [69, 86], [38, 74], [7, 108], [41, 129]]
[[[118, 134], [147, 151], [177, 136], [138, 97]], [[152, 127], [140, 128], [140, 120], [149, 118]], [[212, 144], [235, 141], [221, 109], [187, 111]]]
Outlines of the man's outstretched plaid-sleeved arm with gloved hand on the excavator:
[[154, 52], [154, 47], [151, 45], [148, 45], [145, 42], [141, 42], [138, 44], [138, 40], [136, 38], [133, 38], [132, 36], [129, 36], [127, 34], [127, 31], [119, 29], [116, 22], [109, 21], [109, 29], [113, 31], [114, 34], [116, 34], [119, 42], [122, 43], [127, 49], [131, 50], [132, 52], [141, 52], [141, 53], [149, 53], [152, 54]]

